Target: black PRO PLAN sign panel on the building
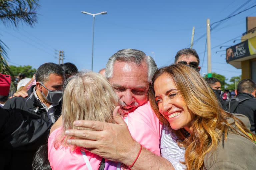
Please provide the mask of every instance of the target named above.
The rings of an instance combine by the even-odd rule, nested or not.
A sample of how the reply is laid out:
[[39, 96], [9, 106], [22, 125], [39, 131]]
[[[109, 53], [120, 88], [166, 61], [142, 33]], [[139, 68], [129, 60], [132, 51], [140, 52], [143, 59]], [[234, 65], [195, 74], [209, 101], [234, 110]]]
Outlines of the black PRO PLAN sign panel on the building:
[[250, 55], [248, 48], [248, 40], [240, 42], [234, 46], [226, 49], [226, 60], [227, 62], [236, 60], [238, 58], [243, 58]]

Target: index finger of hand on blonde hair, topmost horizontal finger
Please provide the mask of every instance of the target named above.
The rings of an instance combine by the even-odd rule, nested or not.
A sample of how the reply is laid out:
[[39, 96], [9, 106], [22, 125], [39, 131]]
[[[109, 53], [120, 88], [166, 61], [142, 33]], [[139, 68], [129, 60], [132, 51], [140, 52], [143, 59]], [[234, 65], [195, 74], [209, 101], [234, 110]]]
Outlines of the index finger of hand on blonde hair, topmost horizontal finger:
[[81, 128], [91, 128], [97, 131], [102, 131], [104, 130], [108, 124], [110, 123], [105, 123], [105, 122], [99, 122], [99, 121], [74, 121], [74, 126], [76, 127], [81, 127]]

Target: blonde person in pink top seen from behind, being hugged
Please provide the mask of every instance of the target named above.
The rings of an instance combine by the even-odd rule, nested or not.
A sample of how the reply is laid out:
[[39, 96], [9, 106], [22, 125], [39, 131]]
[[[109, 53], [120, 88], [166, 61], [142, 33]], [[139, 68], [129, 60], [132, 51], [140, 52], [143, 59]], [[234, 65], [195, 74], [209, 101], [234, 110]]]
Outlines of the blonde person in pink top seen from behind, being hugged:
[[[80, 147], [67, 146], [64, 132], [75, 120], [114, 123], [113, 112], [120, 101], [105, 77], [98, 73], [79, 72], [64, 85], [62, 119], [51, 128], [48, 139], [48, 159], [52, 169], [99, 169], [102, 158]], [[117, 107], [117, 109], [115, 109]], [[113, 167], [114, 166], [114, 167]], [[108, 169], [116, 169], [114, 165]]]

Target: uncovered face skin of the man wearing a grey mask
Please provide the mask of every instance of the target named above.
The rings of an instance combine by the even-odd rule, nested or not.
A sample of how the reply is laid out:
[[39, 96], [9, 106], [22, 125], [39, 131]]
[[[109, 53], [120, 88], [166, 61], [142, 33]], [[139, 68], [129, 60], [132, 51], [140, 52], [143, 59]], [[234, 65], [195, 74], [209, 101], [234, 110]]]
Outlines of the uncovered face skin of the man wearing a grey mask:
[[[44, 82], [44, 86], [49, 90], [62, 90], [63, 77], [57, 74], [50, 74], [48, 81]], [[42, 86], [42, 93], [47, 96], [48, 90]]]

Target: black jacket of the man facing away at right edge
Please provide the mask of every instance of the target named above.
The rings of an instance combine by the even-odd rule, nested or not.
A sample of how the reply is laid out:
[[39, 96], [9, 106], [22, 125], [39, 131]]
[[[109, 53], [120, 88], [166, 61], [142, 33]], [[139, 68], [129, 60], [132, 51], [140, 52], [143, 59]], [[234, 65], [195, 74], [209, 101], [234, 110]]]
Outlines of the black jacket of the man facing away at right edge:
[[256, 100], [253, 99], [254, 96], [249, 93], [240, 93], [236, 96], [239, 100], [245, 99], [245, 98], [252, 98], [245, 100], [236, 108], [236, 113], [243, 114], [247, 116], [250, 120], [251, 128], [250, 130], [255, 133], [255, 123], [256, 123]]

